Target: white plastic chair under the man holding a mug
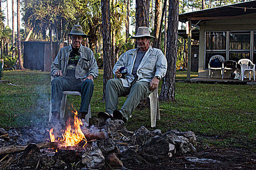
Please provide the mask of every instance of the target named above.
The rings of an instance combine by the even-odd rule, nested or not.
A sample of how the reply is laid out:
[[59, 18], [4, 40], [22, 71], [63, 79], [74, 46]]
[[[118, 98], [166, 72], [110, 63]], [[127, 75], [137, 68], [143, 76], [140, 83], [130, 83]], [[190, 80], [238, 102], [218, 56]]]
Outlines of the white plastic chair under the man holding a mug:
[[[124, 97], [128, 97], [128, 95]], [[156, 127], [157, 119], [160, 120], [158, 87], [152, 93], [150, 93], [148, 98], [150, 99], [151, 127]], [[132, 115], [130, 117], [132, 117]]]

